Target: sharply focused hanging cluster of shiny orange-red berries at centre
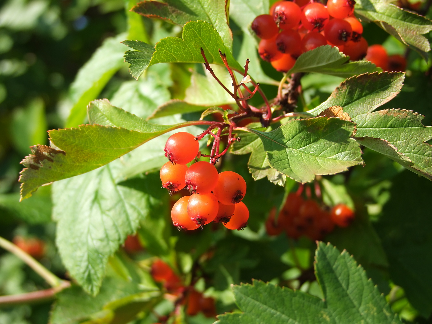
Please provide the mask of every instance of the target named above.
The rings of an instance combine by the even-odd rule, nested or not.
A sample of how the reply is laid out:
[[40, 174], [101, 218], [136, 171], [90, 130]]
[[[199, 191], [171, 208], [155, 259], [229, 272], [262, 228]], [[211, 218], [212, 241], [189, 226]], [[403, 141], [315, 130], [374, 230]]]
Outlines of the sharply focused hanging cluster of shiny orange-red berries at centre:
[[197, 229], [210, 222], [222, 222], [227, 229], [244, 229], [249, 210], [241, 202], [246, 194], [246, 182], [235, 172], [218, 173], [215, 166], [198, 161], [187, 167], [199, 152], [196, 138], [185, 132], [175, 133], [165, 144], [169, 162], [160, 170], [162, 187], [170, 194], [186, 188], [190, 196], [181, 197], [171, 210], [178, 229]]

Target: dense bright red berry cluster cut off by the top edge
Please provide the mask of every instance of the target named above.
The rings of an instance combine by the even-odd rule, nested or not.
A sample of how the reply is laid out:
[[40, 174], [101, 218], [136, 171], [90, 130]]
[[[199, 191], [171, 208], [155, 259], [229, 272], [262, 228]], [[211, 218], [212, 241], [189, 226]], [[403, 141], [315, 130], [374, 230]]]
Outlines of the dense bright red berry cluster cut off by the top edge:
[[309, 0], [274, 3], [269, 15], [257, 16], [251, 25], [261, 38], [260, 57], [281, 72], [290, 70], [300, 54], [327, 44], [336, 46], [350, 60], [363, 59], [368, 42], [362, 37], [362, 23], [353, 16], [355, 3], [354, 0], [328, 0], [327, 6]]

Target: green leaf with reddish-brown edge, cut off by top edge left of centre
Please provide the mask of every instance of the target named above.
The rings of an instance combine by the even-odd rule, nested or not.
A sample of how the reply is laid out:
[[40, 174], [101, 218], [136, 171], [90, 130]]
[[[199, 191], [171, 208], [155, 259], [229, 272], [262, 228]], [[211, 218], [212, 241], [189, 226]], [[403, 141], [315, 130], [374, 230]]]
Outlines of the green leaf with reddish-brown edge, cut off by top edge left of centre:
[[183, 26], [187, 22], [202, 20], [210, 22], [219, 32], [228, 48], [232, 46], [232, 32], [227, 22], [226, 0], [211, 2], [194, 0], [165, 0], [165, 3], [143, 1], [132, 10], [149, 18], [164, 19], [173, 24]]

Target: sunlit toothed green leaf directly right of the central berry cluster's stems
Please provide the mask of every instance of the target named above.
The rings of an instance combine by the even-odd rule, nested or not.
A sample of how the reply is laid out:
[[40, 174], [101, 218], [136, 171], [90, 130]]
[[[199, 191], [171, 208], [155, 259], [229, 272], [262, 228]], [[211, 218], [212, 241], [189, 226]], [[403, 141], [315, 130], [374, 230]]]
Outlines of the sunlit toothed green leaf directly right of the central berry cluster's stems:
[[[295, 119], [270, 132], [250, 129], [264, 143], [270, 166], [305, 183], [361, 165], [361, 150], [350, 138], [355, 125], [339, 118]], [[307, 166], [307, 167], [306, 167]]]

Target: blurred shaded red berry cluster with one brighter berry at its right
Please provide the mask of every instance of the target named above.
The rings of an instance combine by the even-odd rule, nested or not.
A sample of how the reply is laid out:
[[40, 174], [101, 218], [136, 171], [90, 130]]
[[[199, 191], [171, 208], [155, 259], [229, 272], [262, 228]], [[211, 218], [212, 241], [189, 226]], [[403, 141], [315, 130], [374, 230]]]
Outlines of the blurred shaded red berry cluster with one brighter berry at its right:
[[334, 226], [348, 226], [354, 219], [354, 212], [344, 204], [327, 211], [312, 199], [304, 200], [298, 194], [289, 194], [277, 220], [276, 208], [270, 210], [266, 221], [268, 235], [279, 235], [283, 231], [291, 238], [305, 235], [311, 240], [320, 240], [333, 231]]

